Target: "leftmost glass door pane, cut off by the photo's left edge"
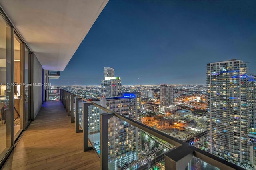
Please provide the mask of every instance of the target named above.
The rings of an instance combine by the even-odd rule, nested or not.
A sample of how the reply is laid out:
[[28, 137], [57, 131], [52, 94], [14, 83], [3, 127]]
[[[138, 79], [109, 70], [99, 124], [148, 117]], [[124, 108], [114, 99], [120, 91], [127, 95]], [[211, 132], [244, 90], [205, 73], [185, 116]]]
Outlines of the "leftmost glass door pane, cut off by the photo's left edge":
[[12, 28], [0, 14], [0, 162], [12, 143]]

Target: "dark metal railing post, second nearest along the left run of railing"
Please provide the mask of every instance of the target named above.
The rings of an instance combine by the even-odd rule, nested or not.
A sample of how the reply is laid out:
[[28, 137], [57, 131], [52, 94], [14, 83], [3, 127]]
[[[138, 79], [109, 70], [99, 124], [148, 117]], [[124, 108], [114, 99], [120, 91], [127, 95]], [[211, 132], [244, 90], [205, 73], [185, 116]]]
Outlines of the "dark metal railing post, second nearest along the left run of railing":
[[[92, 105], [92, 103], [84, 103], [84, 116], [83, 116], [84, 152], [92, 149], [91, 146], [88, 146], [88, 106], [90, 105]], [[93, 141], [92, 141], [92, 145], [93, 145]]]

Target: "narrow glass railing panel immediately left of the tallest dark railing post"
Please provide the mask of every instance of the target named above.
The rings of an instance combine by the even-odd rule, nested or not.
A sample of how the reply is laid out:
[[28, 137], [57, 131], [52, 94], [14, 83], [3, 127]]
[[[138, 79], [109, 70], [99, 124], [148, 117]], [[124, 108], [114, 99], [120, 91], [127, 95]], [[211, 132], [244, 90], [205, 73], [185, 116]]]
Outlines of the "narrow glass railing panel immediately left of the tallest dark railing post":
[[[96, 103], [98, 101], [95, 101]], [[100, 114], [105, 113], [100, 108], [88, 106], [88, 139], [98, 155], [100, 155]]]

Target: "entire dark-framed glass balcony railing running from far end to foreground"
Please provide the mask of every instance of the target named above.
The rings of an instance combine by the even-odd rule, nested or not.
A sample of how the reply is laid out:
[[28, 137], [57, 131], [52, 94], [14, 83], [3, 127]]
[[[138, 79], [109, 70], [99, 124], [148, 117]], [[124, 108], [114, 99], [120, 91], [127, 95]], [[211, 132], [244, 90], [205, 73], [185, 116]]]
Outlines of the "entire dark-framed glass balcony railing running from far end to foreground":
[[106, 109], [99, 101], [88, 101], [65, 90], [60, 90], [60, 99], [76, 124], [76, 132], [84, 134], [84, 151], [96, 151], [102, 170], [243, 169]]

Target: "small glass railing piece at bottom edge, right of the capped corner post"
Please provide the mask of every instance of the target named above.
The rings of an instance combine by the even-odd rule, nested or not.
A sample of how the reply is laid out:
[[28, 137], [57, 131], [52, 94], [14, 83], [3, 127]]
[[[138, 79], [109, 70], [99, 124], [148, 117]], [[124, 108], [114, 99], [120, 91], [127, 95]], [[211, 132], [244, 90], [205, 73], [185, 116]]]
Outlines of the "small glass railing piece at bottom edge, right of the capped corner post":
[[186, 170], [220, 170], [219, 168], [204, 162], [203, 160], [193, 157], [188, 163]]

